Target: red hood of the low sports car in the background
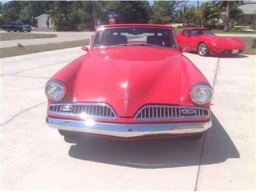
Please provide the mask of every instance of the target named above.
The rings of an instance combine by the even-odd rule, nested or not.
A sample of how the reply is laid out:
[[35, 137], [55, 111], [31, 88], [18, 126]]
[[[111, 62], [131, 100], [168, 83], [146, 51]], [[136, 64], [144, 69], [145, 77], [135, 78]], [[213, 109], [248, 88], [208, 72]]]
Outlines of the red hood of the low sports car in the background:
[[203, 35], [220, 49], [241, 49], [244, 44], [236, 37], [220, 37], [217, 35]]

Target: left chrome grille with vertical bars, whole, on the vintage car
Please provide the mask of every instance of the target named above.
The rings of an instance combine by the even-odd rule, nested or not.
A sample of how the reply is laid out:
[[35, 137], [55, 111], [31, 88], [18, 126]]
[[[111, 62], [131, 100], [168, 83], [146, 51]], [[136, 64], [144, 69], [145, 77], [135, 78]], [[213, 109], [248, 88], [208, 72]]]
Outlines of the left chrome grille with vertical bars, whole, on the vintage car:
[[52, 104], [49, 106], [49, 113], [101, 119], [116, 119], [117, 117], [112, 107], [105, 103]]

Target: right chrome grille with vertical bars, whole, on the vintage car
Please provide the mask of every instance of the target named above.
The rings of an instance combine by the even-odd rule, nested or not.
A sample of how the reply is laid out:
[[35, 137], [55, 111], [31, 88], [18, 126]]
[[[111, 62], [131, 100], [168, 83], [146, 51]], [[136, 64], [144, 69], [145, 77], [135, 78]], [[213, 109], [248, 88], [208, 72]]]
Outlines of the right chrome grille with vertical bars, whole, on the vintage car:
[[191, 106], [146, 105], [136, 114], [136, 120], [169, 120], [209, 117], [209, 109]]

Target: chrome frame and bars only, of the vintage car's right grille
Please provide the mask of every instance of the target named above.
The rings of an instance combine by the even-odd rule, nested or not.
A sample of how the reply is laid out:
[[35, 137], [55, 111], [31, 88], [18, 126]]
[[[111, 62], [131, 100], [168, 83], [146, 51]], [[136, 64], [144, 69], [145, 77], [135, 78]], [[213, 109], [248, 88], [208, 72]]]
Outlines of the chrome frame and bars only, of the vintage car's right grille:
[[[196, 115], [196, 111], [195, 111], [195, 116], [177, 116], [177, 112], [176, 112], [176, 109], [175, 109], [174, 110], [175, 114], [173, 114], [173, 112], [171, 110], [171, 117], [169, 117], [169, 110], [168, 110], [168, 117], [153, 117], [153, 118], [145, 117], [145, 118], [143, 118], [141, 116], [141, 114], [142, 114], [141, 112], [143, 111], [143, 109], [150, 108], [150, 107], [178, 108], [179, 109], [179, 114], [181, 114], [180, 113], [180, 109], [181, 108], [202, 109], [202, 110], [208, 111], [208, 115], [200, 115], [200, 114]], [[200, 113], [200, 111], [199, 111], [199, 113]], [[154, 115], [154, 110], [153, 110], [152, 114]], [[173, 115], [174, 115], [174, 117], [173, 117]], [[158, 116], [158, 110], [156, 110], [156, 116]], [[160, 116], [161, 116], [161, 110], [160, 110]], [[210, 116], [210, 110], [208, 108], [205, 108], [205, 107], [194, 107], [194, 106], [184, 106], [184, 105], [145, 105], [136, 113], [134, 119], [137, 120], [137, 121], [147, 121], [147, 120], [171, 120], [171, 119], [209, 118], [209, 116]]]

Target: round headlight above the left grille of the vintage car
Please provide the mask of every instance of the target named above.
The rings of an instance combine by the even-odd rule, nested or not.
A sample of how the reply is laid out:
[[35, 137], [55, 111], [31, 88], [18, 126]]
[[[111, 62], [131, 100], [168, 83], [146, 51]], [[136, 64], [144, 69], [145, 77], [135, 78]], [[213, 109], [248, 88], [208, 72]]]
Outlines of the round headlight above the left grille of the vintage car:
[[49, 80], [45, 85], [45, 94], [52, 101], [62, 100], [65, 93], [65, 85], [60, 80]]

